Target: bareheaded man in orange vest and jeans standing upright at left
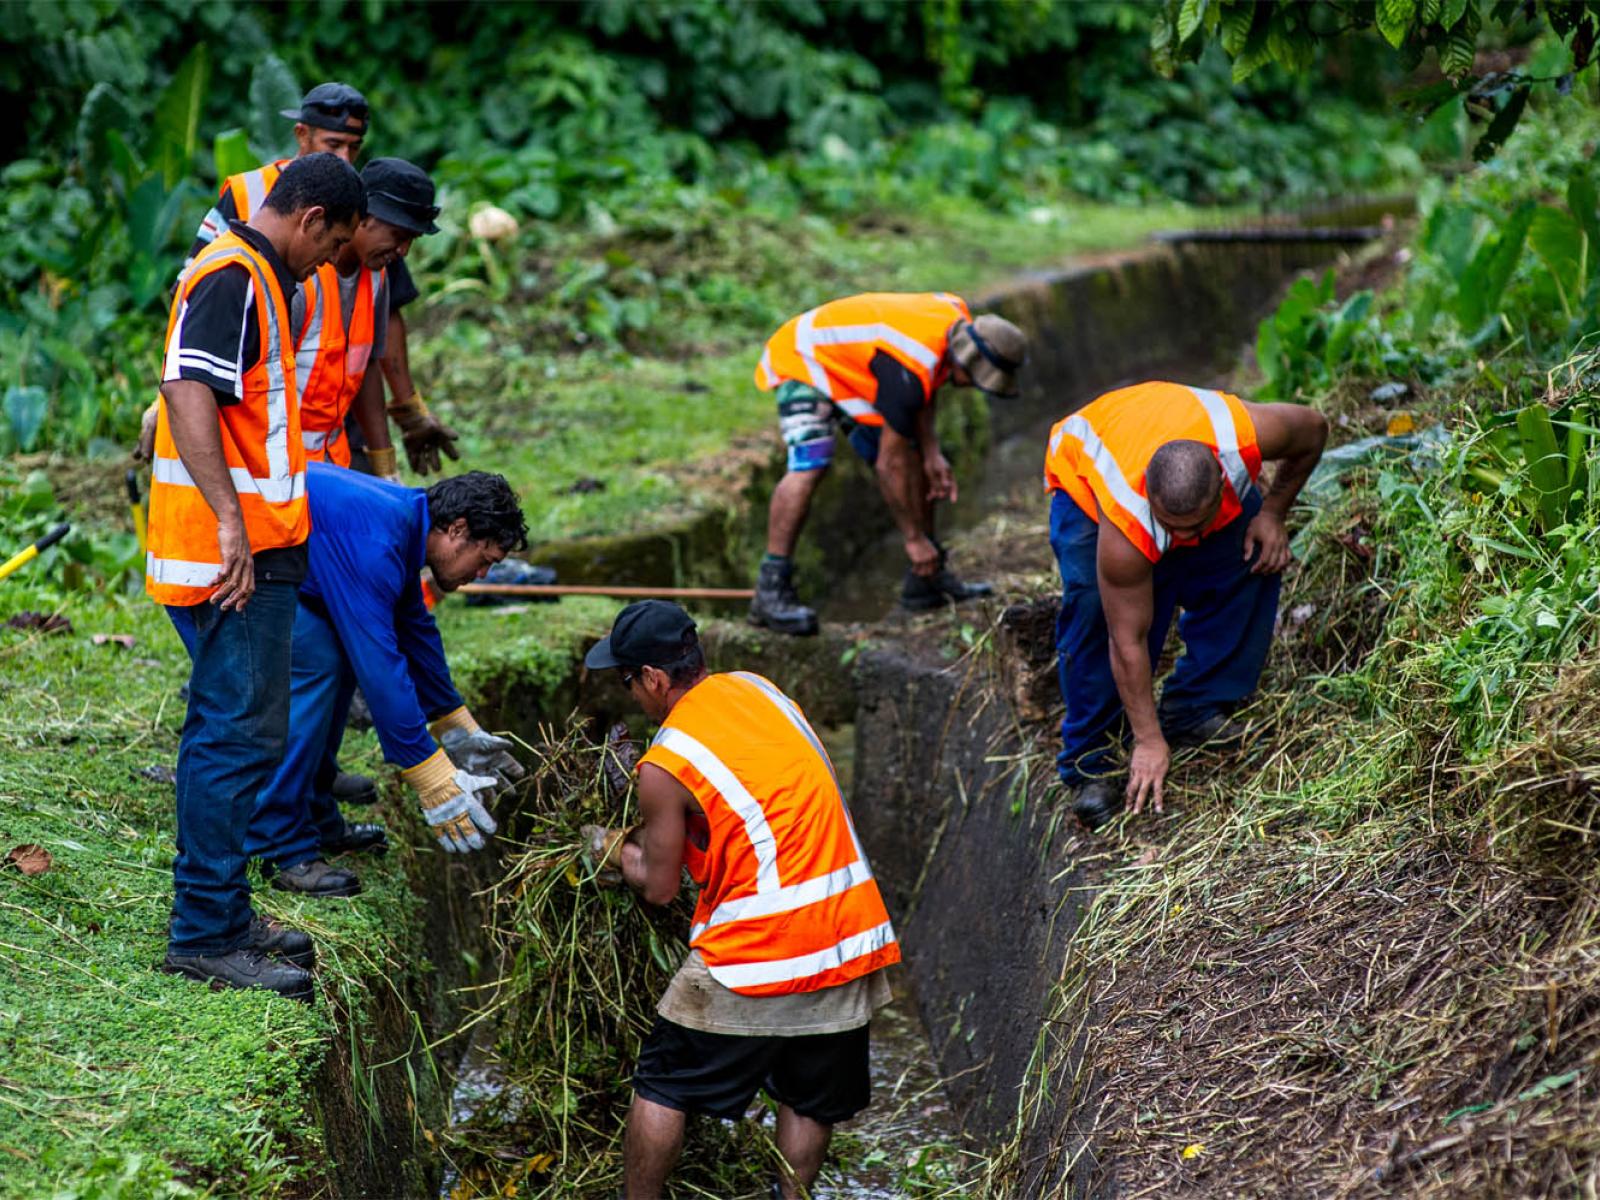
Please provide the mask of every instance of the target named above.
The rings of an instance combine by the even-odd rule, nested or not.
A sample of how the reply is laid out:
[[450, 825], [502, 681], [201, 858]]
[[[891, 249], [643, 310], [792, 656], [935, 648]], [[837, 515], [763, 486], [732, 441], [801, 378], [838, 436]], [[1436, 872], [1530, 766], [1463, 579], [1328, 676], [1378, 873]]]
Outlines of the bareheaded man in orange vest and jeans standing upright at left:
[[307, 155], [195, 258], [173, 298], [150, 462], [146, 590], [194, 667], [163, 970], [302, 1000], [314, 947], [251, 912], [245, 827], [283, 757], [310, 531], [288, 298], [365, 211], [349, 163]]

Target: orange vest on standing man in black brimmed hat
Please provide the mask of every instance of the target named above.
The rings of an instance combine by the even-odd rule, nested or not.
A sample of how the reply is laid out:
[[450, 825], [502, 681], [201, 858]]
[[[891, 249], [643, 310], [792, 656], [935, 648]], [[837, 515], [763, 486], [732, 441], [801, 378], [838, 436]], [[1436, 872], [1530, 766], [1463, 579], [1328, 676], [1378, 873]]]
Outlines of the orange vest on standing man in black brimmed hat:
[[306, 315], [294, 331], [294, 374], [301, 398], [301, 438], [312, 462], [350, 466], [350, 442], [344, 414], [362, 390], [373, 357], [374, 299], [382, 270], [360, 269], [350, 328], [339, 306], [339, 272], [331, 262], [301, 285]]

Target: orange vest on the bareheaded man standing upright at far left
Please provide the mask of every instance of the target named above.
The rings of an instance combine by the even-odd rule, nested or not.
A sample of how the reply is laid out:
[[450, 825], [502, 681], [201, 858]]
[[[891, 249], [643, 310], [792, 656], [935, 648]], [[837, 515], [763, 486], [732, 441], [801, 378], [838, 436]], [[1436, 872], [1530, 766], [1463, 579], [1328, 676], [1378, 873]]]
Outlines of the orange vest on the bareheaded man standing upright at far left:
[[[310, 533], [310, 509], [306, 504], [306, 451], [294, 390], [290, 306], [272, 266], [237, 234], [222, 234], [195, 254], [178, 282], [166, 322], [168, 349], [195, 285], [229, 266], [250, 270], [256, 323], [261, 326], [261, 362], [245, 373], [240, 402], [218, 408], [222, 454], [238, 493], [251, 552], [299, 546]], [[163, 605], [197, 605], [216, 590], [211, 581], [221, 563], [216, 514], [178, 458], [166, 398], [162, 397], [155, 458], [150, 462], [144, 590]]]

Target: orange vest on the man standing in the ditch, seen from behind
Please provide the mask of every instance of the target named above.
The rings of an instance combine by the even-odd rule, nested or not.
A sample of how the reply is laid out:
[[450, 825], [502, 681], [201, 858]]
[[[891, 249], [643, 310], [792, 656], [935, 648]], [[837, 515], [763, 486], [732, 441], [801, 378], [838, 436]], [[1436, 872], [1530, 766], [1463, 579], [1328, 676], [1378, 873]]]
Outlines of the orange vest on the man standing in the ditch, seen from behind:
[[784, 995], [899, 962], [827, 752], [771, 682], [739, 670], [696, 683], [643, 763], [693, 792], [710, 827], [683, 861], [701, 888], [690, 946], [712, 979]]

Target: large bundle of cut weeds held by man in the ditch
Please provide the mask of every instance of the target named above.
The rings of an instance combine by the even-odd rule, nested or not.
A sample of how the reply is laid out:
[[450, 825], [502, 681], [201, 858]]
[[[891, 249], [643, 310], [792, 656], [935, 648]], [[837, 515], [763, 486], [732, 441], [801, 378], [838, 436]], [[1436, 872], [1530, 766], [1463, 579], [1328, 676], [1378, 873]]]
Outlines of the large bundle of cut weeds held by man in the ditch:
[[[637, 750], [574, 723], [544, 730], [488, 891], [501, 978], [467, 1022], [480, 1102], [458, 1107], [453, 1198], [616, 1195], [630, 1075], [656, 1002], [685, 954], [690, 890], [653, 909], [597, 877], [579, 827], [634, 821]], [[771, 1144], [752, 1123], [691, 1122], [678, 1195], [762, 1195]]]

